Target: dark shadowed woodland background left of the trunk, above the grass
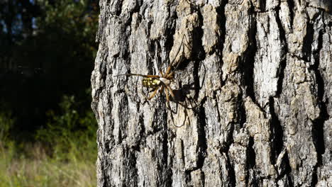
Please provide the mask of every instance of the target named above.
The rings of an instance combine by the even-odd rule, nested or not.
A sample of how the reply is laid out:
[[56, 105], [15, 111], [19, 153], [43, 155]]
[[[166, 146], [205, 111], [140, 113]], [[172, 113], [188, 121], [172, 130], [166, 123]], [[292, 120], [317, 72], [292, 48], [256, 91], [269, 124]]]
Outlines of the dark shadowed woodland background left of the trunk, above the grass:
[[[98, 15], [96, 0], [0, 2], [0, 129], [7, 138], [36, 141], [40, 129], [64, 136], [65, 128], [70, 135], [95, 133], [86, 90]], [[12, 120], [11, 127], [1, 119]]]

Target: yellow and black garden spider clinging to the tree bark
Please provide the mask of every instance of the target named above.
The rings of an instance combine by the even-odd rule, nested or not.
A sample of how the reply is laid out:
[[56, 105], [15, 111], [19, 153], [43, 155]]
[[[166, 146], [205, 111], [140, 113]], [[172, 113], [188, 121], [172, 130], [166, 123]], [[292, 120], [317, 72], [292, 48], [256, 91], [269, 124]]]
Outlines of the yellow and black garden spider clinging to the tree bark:
[[[158, 90], [160, 91], [160, 93], [162, 93], [162, 91], [165, 91], [165, 96], [166, 96], [166, 101], [167, 101], [167, 108], [170, 109], [170, 97], [172, 98], [172, 101], [175, 101], [175, 94], [174, 94], [172, 88], [170, 87], [170, 84], [175, 79], [174, 78], [174, 73], [177, 70], [177, 68], [179, 67], [179, 62], [181, 62], [182, 57], [180, 57], [180, 60], [177, 64], [177, 67], [175, 67], [174, 70], [172, 70], [172, 67], [173, 67], [173, 63], [175, 62], [175, 59], [177, 59], [177, 55], [179, 55], [179, 51], [183, 47], [182, 44], [183, 44], [183, 39], [184, 38], [186, 38], [185, 35], [182, 37], [179, 49], [177, 50], [174, 59], [172, 60], [172, 62], [170, 62], [170, 65], [167, 67], [166, 72], [162, 73], [162, 71], [159, 71], [160, 76], [159, 75], [150, 75], [150, 74], [147, 74], [147, 75], [145, 75], [145, 74], [118, 74], [118, 75], [115, 75], [114, 77], [118, 77], [118, 76], [144, 77], [142, 79], [142, 85], [146, 88], [153, 89], [153, 92], [150, 96], [145, 96], [144, 94], [143, 94], [143, 96], [147, 100], [150, 100], [151, 98], [153, 98], [157, 94]], [[187, 38], [186, 38], [186, 40], [187, 40]], [[183, 50], [182, 50], [182, 52], [183, 52]]]

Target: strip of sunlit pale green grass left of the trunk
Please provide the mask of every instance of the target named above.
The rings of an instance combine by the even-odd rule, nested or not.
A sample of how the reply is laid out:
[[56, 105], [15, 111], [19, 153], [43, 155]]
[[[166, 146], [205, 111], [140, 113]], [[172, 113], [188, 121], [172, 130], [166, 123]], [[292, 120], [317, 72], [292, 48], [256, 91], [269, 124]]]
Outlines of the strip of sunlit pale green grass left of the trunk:
[[67, 159], [50, 157], [38, 143], [24, 149], [19, 154], [12, 143], [5, 147], [0, 142], [0, 187], [96, 186], [94, 159], [84, 153], [79, 157], [75, 148]]

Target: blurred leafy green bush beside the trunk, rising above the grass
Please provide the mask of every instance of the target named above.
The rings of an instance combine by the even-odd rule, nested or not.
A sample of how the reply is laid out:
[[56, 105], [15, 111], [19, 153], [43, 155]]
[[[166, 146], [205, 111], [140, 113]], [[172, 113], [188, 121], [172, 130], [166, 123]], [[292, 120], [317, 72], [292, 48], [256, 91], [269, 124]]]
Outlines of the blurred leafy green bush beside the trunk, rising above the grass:
[[91, 110], [77, 110], [81, 107], [74, 96], [63, 96], [60, 112], [48, 111], [47, 125], [36, 133], [38, 142], [49, 145], [53, 159], [96, 159], [96, 119]]

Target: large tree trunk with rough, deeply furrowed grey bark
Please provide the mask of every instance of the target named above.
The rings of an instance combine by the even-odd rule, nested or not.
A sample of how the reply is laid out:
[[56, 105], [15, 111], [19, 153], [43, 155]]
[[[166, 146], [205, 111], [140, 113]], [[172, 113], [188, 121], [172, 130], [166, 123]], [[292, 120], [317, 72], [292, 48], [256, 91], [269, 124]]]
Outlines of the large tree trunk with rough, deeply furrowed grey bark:
[[[99, 4], [99, 187], [332, 186], [330, 0]], [[172, 60], [173, 114], [114, 77]]]

